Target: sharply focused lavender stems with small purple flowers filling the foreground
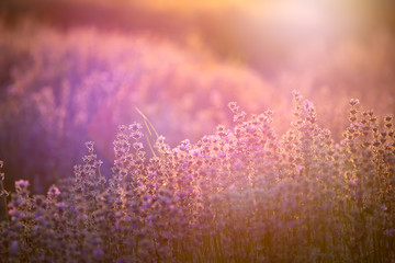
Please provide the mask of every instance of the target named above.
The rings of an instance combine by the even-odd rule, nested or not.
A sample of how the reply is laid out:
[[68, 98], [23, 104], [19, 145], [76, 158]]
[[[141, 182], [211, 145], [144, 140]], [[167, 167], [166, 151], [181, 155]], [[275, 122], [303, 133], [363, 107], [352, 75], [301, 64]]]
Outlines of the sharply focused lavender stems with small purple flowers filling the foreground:
[[[350, 101], [336, 142], [294, 94], [291, 128], [272, 112], [171, 148], [121, 125], [111, 178], [94, 144], [75, 178], [32, 195], [15, 182], [1, 221], [4, 262], [394, 262], [393, 116]], [[147, 153], [153, 151], [153, 158]], [[5, 202], [7, 192], [1, 197]]]

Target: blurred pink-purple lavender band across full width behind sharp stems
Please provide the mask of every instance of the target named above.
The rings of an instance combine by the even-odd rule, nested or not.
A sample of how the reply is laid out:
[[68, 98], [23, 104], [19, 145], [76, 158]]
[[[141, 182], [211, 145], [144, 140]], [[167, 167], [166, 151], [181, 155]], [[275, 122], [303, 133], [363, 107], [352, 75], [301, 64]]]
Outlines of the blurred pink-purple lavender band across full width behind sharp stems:
[[105, 165], [116, 126], [139, 121], [135, 106], [171, 147], [187, 137], [196, 142], [218, 123], [229, 126], [224, 105], [236, 100], [247, 112], [275, 108], [273, 127], [283, 134], [295, 87], [319, 105], [318, 122], [337, 141], [348, 125], [348, 98], [381, 115], [395, 112], [395, 39], [385, 32], [328, 50], [296, 48], [297, 57], [275, 67], [261, 57], [267, 70], [259, 72], [208, 55], [203, 44], [191, 50], [171, 39], [81, 25], [61, 31], [31, 19], [0, 24], [0, 157], [9, 190], [24, 179], [43, 194], [69, 175], [87, 140]]

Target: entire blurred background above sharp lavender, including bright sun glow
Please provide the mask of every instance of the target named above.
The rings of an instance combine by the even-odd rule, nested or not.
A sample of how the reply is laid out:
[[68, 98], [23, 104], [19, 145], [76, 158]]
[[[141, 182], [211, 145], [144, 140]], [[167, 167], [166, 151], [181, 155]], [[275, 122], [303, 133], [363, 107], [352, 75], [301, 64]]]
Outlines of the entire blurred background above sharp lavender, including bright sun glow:
[[72, 176], [87, 140], [109, 174], [136, 106], [176, 146], [232, 127], [229, 101], [270, 107], [283, 134], [298, 90], [340, 141], [351, 98], [395, 112], [394, 13], [391, 0], [3, 0], [7, 187], [29, 179], [43, 193]]

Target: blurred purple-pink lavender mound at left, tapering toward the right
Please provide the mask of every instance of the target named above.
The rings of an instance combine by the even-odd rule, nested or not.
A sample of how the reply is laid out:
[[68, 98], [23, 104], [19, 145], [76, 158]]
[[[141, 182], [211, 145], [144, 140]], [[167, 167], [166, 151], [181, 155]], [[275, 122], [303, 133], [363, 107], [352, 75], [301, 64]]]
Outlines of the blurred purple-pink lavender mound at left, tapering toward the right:
[[135, 106], [176, 146], [213, 133], [227, 101], [256, 111], [274, 92], [253, 71], [154, 37], [31, 21], [0, 35], [0, 156], [11, 182], [29, 179], [34, 193], [68, 176], [83, 141], [112, 160], [116, 126], [138, 119]]

